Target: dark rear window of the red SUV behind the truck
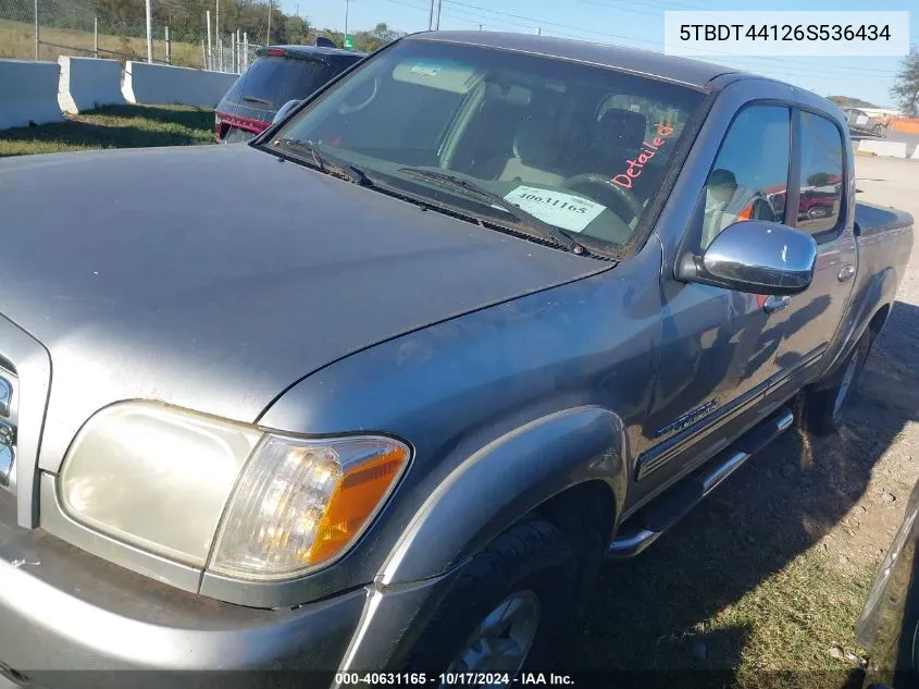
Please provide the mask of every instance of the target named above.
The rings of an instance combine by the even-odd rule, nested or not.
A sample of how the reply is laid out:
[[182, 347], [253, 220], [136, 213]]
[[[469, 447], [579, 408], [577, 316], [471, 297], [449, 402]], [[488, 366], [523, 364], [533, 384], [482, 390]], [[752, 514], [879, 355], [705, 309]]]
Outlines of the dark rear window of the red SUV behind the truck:
[[263, 56], [234, 84], [227, 99], [251, 98], [280, 108], [288, 100], [306, 98], [339, 71], [315, 60]]

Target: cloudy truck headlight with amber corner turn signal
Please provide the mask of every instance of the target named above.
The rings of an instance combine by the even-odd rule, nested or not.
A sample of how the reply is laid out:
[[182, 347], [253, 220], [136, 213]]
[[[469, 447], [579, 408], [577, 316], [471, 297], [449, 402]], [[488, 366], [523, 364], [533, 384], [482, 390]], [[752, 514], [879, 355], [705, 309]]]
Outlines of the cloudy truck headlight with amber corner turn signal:
[[94, 416], [60, 477], [75, 520], [225, 576], [301, 575], [352, 544], [408, 465], [383, 436], [274, 435], [161, 404]]

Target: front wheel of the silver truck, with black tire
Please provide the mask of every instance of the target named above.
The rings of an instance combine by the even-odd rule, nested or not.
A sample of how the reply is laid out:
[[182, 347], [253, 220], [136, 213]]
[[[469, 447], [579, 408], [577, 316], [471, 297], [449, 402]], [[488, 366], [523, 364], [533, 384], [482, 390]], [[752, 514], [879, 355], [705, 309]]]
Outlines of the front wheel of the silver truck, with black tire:
[[[463, 673], [510, 687], [538, 670], [563, 638], [573, 610], [578, 566], [563, 533], [532, 516], [505, 531], [465, 566], [421, 633], [408, 669], [442, 688]], [[456, 679], [454, 679], [456, 678]]]

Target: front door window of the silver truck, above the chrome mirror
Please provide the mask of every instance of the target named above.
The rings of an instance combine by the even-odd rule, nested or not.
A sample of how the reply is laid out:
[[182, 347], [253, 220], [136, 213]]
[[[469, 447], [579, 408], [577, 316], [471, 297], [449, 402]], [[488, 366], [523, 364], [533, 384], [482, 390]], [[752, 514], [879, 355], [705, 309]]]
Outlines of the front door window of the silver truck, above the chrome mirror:
[[788, 108], [752, 106], [737, 115], [705, 185], [703, 249], [735, 222], [782, 222], [791, 134]]

